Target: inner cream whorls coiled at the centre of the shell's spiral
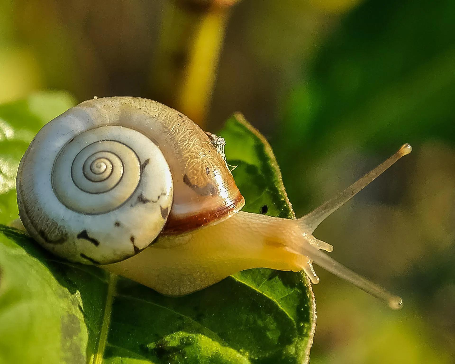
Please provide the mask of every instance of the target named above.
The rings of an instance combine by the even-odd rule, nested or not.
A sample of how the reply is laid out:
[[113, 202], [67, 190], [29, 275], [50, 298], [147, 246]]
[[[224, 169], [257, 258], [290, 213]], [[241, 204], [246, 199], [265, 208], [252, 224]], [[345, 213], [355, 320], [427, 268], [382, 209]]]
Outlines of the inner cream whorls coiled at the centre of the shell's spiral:
[[86, 214], [120, 207], [144, 177], [134, 148], [160, 153], [146, 136], [122, 126], [100, 126], [76, 136], [61, 149], [52, 168], [57, 198], [69, 209]]

